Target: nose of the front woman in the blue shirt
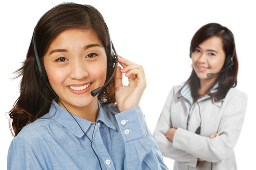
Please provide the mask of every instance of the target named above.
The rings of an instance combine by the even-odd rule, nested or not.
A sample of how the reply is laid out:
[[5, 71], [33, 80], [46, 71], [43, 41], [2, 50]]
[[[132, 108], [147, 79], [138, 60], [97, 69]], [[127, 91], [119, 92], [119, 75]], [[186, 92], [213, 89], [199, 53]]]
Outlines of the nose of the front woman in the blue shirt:
[[81, 80], [88, 77], [89, 73], [86, 69], [85, 63], [82, 61], [74, 61], [70, 64], [70, 78]]

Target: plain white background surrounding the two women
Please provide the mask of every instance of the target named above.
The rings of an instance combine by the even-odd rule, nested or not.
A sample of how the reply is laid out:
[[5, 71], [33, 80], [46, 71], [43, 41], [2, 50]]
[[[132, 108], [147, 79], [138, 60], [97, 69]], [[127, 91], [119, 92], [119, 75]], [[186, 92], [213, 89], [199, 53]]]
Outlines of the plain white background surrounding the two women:
[[[19, 96], [20, 68], [39, 18], [62, 0], [5, 1], [0, 4], [0, 169], [6, 169], [12, 135], [8, 111]], [[244, 126], [235, 147], [238, 170], [251, 170], [256, 152], [256, 5], [246, 0], [76, 0], [95, 6], [105, 18], [118, 54], [144, 67], [147, 88], [140, 106], [153, 133], [173, 85], [191, 72], [190, 40], [204, 24], [217, 22], [235, 35], [239, 60], [237, 88], [249, 97]], [[204, 113], [207, 114], [207, 113]], [[192, 146], [193, 147], [193, 146]], [[172, 169], [173, 160], [164, 158]]]

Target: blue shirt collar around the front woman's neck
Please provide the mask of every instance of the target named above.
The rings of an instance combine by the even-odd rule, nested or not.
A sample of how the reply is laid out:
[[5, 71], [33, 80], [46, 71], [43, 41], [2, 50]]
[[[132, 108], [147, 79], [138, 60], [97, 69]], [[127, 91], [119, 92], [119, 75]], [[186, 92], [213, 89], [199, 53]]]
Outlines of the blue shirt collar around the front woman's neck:
[[[98, 104], [100, 104], [98, 102]], [[71, 113], [72, 114], [72, 113]], [[53, 100], [52, 105], [49, 110], [49, 115], [55, 119], [59, 124], [67, 128], [71, 133], [73, 133], [77, 137], [82, 137], [84, 133], [87, 132], [89, 129], [90, 125], [93, 124], [94, 122], [88, 121], [86, 119], [82, 119], [74, 114], [72, 116], [78, 121], [79, 125], [81, 126], [82, 130], [80, 129], [78, 123], [76, 120], [72, 118], [72, 116], [68, 113], [68, 111], [65, 108], [62, 108], [59, 106], [57, 102]], [[110, 121], [110, 119], [107, 117], [105, 114], [105, 111], [103, 108], [100, 108], [99, 113], [98, 113], [98, 120], [102, 121], [106, 126], [115, 129], [114, 125]]]

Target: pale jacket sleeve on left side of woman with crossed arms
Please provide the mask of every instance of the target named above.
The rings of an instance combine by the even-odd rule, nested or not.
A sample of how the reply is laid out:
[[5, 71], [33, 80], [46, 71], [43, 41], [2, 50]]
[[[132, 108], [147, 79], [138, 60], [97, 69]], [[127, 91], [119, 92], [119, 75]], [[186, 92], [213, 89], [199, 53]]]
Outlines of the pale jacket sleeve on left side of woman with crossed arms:
[[185, 151], [182, 151], [179, 148], [175, 148], [173, 146], [173, 143], [166, 138], [167, 130], [173, 127], [170, 108], [171, 108], [171, 103], [174, 95], [175, 95], [175, 92], [173, 87], [164, 104], [164, 107], [158, 119], [157, 126], [153, 133], [153, 136], [156, 139], [163, 156], [174, 159], [178, 162], [182, 162], [191, 167], [196, 167], [197, 166], [196, 156], [194, 156], [193, 154], [187, 153]]

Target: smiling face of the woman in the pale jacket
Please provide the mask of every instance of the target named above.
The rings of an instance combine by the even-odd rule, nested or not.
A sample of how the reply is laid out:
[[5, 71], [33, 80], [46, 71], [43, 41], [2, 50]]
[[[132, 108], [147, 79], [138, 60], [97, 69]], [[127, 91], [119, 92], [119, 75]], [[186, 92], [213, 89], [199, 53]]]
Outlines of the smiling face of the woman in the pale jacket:
[[225, 63], [222, 40], [217, 36], [213, 36], [199, 44], [192, 52], [192, 63], [200, 81], [215, 80], [217, 74], [207, 77], [207, 73], [220, 71]]

